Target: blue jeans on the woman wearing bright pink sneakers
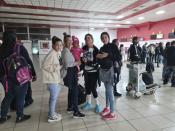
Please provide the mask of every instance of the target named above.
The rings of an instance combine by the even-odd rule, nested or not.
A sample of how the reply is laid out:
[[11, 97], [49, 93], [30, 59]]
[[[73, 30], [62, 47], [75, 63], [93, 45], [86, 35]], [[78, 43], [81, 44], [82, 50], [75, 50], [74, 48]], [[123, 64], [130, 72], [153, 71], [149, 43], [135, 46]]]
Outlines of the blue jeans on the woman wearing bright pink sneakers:
[[115, 102], [113, 94], [113, 86], [110, 82], [104, 82], [105, 85], [105, 94], [106, 94], [106, 106], [110, 107], [111, 113], [114, 112]]

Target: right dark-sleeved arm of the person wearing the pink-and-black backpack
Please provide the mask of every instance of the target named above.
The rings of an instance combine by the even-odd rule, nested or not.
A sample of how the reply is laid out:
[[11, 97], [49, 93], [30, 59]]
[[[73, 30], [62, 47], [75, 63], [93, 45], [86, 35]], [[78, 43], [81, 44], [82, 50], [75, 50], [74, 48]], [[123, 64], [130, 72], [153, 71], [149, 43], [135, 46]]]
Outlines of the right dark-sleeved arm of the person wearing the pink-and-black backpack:
[[35, 72], [35, 68], [33, 66], [33, 62], [30, 59], [30, 56], [28, 54], [27, 49], [22, 45], [20, 45], [20, 54], [26, 59], [27, 63], [30, 65], [31, 71], [32, 71], [32, 76], [34, 79], [36, 79], [36, 72]]

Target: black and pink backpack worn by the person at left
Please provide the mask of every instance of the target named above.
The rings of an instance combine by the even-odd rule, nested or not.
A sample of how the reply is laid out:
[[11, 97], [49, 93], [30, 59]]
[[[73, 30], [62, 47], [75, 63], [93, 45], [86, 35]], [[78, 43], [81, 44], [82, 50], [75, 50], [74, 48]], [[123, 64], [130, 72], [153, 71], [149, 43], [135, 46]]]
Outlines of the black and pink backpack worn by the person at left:
[[31, 70], [26, 59], [20, 55], [20, 45], [16, 44], [14, 52], [3, 61], [5, 71], [6, 92], [8, 92], [8, 80], [20, 86], [32, 79]]

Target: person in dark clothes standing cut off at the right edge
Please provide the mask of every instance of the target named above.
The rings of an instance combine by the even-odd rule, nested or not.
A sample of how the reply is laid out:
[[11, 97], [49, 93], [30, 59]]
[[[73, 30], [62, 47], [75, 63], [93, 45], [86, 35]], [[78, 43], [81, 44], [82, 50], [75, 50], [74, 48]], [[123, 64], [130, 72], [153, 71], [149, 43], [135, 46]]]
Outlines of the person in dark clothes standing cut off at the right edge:
[[175, 41], [171, 42], [171, 47], [166, 51], [166, 60], [167, 60], [167, 72], [164, 77], [164, 84], [167, 84], [169, 78], [171, 78], [171, 86], [175, 87]]

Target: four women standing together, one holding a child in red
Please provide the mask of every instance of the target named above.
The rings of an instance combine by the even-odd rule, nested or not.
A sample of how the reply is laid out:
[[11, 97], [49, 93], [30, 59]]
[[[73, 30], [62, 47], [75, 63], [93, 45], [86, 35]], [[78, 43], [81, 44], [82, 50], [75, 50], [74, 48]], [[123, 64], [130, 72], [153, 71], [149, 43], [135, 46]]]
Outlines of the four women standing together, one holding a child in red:
[[[83, 70], [86, 89], [86, 102], [81, 107], [83, 110], [93, 108], [91, 94], [95, 99], [95, 112], [100, 113], [104, 120], [116, 119], [113, 86], [115, 73], [121, 68], [121, 54], [116, 43], [110, 43], [107, 32], [101, 33], [103, 46], [100, 50], [94, 45], [91, 34], [85, 35], [85, 46], [79, 47], [77, 37], [64, 33], [63, 42], [56, 36], [52, 38], [52, 50], [42, 63], [43, 81], [50, 92], [48, 121], [55, 122], [62, 119], [61, 114], [56, 113], [56, 101], [61, 90], [61, 79], [68, 87], [67, 112], [73, 114], [73, 118], [83, 118], [85, 114], [78, 108], [78, 76]], [[63, 44], [63, 49], [60, 47]], [[117, 72], [118, 71], [118, 72]], [[117, 76], [116, 76], [117, 77]], [[119, 78], [117, 78], [119, 79]], [[105, 85], [106, 105], [102, 110], [97, 92], [97, 84]], [[115, 85], [116, 86], [116, 85]], [[116, 88], [115, 88], [116, 91]], [[121, 96], [121, 94], [118, 93]]]

